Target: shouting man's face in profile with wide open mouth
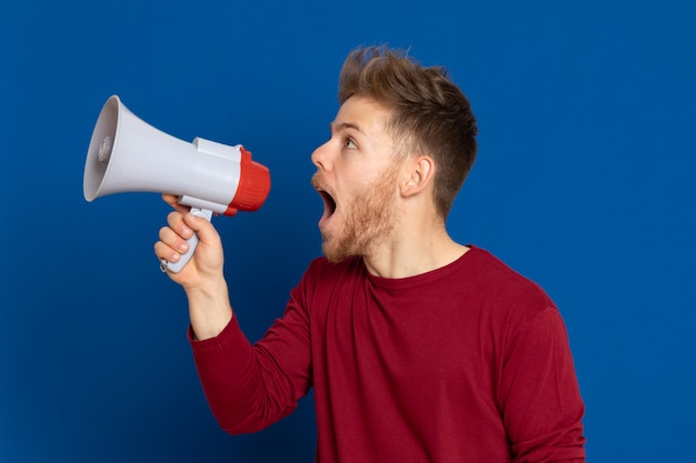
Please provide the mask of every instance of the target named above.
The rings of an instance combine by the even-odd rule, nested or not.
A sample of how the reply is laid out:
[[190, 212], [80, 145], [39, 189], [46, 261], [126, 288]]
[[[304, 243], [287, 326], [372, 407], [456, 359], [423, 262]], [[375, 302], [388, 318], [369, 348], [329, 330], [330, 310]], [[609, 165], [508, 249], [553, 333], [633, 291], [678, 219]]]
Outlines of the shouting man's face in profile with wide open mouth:
[[362, 97], [349, 98], [317, 148], [312, 185], [325, 202], [319, 230], [334, 262], [367, 255], [395, 225], [398, 165], [386, 131], [390, 111]]

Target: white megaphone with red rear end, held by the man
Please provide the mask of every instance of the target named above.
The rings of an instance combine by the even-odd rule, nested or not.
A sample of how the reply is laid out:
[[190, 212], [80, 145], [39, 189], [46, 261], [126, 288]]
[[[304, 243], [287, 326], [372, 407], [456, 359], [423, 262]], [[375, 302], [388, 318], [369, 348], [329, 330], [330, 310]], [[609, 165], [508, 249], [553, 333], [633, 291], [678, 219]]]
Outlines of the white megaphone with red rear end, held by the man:
[[[240, 144], [179, 140], [138, 119], [117, 95], [99, 113], [84, 162], [87, 201], [135, 191], [171, 193], [208, 220], [212, 213], [256, 211], [269, 190], [268, 169]], [[197, 244], [195, 234], [189, 251], [176, 263], [163, 261], [162, 271], [178, 273]]]

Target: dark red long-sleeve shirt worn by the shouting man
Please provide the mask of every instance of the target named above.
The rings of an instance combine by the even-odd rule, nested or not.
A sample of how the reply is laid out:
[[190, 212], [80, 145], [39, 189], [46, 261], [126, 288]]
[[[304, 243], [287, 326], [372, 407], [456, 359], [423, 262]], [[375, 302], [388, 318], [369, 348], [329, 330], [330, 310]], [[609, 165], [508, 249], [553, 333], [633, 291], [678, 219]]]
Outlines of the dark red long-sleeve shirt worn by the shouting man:
[[405, 279], [318, 259], [261, 341], [233, 319], [191, 345], [230, 433], [286, 416], [314, 386], [321, 463], [585, 461], [558, 310], [475, 246]]

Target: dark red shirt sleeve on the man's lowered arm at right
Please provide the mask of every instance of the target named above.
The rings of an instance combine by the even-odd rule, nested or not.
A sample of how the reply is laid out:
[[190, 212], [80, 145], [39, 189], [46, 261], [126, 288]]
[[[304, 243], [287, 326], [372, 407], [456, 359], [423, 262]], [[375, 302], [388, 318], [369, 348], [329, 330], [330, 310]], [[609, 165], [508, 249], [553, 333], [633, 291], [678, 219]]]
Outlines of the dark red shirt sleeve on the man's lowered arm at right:
[[585, 461], [585, 409], [556, 308], [543, 310], [510, 336], [501, 410], [515, 463]]

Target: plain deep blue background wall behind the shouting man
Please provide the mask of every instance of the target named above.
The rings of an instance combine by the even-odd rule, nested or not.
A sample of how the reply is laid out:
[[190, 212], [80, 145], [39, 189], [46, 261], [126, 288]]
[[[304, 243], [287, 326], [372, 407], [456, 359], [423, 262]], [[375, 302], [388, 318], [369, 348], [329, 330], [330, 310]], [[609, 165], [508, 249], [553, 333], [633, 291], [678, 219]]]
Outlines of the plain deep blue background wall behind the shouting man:
[[215, 220], [252, 340], [319, 252], [309, 155], [359, 44], [410, 48], [470, 98], [479, 158], [449, 219], [566, 320], [590, 461], [693, 459], [696, 3], [105, 0], [0, 6], [0, 461], [314, 459], [311, 396], [253, 435], [217, 427], [183, 292], [152, 253], [152, 193], [82, 198], [118, 93], [182, 140], [272, 173]]

